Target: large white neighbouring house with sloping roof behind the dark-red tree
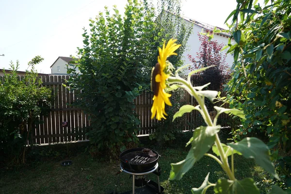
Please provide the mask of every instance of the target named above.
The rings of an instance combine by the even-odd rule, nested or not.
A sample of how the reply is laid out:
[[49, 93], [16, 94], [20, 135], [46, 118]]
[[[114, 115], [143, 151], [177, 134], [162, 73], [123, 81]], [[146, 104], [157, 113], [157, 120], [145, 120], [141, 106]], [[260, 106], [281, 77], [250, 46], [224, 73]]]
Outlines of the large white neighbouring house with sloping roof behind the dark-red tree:
[[[211, 26], [209, 24], [203, 23], [203, 22], [198, 22], [194, 19], [182, 17], [186, 22], [189, 22], [190, 24], [193, 24], [193, 30], [192, 34], [189, 36], [187, 45], [189, 46], [188, 49], [183, 54], [183, 60], [185, 61], [185, 65], [191, 64], [188, 54], [192, 55], [194, 58], [197, 57], [197, 52], [199, 52], [199, 48], [201, 46], [201, 42], [199, 41], [199, 37], [197, 36], [197, 33], [200, 32], [207, 32], [211, 31], [214, 29], [214, 26]], [[224, 30], [222, 28], [216, 27], [219, 30]], [[218, 44], [228, 44], [228, 38], [230, 37], [229, 33], [221, 32], [221, 33], [215, 33], [213, 38], [211, 39], [212, 41], [217, 41]], [[223, 54], [226, 53], [226, 49], [223, 50]], [[232, 54], [227, 54], [226, 55], [226, 63], [229, 67], [231, 67], [232, 63], [234, 62], [233, 55]]]

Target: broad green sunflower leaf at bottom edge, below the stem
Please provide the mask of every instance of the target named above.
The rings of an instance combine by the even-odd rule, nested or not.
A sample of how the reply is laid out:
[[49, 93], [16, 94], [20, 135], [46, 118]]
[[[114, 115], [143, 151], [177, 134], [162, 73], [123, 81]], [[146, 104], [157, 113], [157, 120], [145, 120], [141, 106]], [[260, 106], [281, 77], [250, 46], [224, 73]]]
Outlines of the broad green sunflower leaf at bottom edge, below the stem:
[[218, 179], [214, 192], [215, 194], [259, 194], [259, 189], [252, 178], [235, 181]]

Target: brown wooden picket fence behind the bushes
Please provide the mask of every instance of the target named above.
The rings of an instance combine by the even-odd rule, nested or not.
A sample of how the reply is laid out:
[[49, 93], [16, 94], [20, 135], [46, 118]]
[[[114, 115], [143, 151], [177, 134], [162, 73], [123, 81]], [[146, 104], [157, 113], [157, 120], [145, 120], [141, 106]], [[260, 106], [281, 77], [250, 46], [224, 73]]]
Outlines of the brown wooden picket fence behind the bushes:
[[[21, 78], [23, 76], [19, 77], [19, 79]], [[69, 79], [69, 76], [39, 76], [38, 79], [43, 81], [43, 87], [47, 87], [52, 91], [53, 101], [48, 116], [40, 115], [38, 122], [40, 124], [36, 125], [35, 129], [32, 130], [33, 144], [87, 140], [88, 137], [85, 133], [88, 131], [86, 131], [86, 127], [90, 126], [88, 115], [84, 114], [80, 108], [73, 106], [73, 102], [77, 99], [76, 91], [74, 93], [63, 85], [65, 80]], [[0, 77], [0, 80], [3, 80], [3, 77]], [[139, 135], [151, 134], [155, 130], [154, 124], [159, 122], [150, 118], [152, 98], [151, 92], [144, 92], [134, 100], [135, 111], [141, 121]], [[188, 104], [196, 105], [194, 98], [189, 95], [186, 95], [183, 100]], [[200, 122], [199, 115], [197, 111], [193, 111], [191, 114], [188, 113], [185, 119], [185, 128], [181, 130], [191, 129], [188, 125], [189, 123]], [[227, 116], [222, 117], [227, 118]], [[62, 122], [64, 121], [68, 123], [66, 128], [62, 127]]]

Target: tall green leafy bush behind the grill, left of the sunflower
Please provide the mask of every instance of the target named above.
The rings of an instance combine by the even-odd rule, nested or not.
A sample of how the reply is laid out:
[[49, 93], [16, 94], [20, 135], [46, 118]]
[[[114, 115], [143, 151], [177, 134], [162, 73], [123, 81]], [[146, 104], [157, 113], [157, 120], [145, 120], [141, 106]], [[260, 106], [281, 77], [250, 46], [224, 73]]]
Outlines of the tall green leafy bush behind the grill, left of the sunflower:
[[[149, 88], [149, 75], [156, 57], [154, 10], [129, 0], [122, 18], [116, 7], [111, 15], [99, 13], [90, 19], [90, 33], [83, 35], [79, 49], [80, 75], [71, 78], [74, 90], [81, 90], [78, 106], [90, 115], [90, 142], [95, 153], [109, 151], [112, 157], [136, 145], [140, 121], [133, 100]], [[74, 69], [71, 69], [73, 73]], [[75, 72], [76, 73], [76, 72]]]

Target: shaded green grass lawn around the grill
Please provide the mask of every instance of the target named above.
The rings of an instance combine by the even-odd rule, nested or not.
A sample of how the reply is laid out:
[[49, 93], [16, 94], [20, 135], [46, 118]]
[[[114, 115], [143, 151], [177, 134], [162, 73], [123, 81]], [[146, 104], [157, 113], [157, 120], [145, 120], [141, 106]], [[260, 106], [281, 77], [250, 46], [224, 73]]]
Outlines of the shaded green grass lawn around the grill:
[[[165, 194], [190, 194], [191, 188], [199, 187], [210, 172], [209, 181], [215, 183], [218, 178], [226, 178], [221, 167], [209, 157], [203, 157], [179, 181], [169, 181], [171, 162], [185, 159], [187, 148], [156, 149], [161, 154], [159, 165], [160, 177]], [[113, 190], [119, 162], [109, 163], [104, 159], [92, 159], [89, 154], [80, 153], [70, 157], [73, 164], [61, 166], [61, 160], [38, 162], [17, 170], [0, 170], [0, 194], [104, 194]], [[235, 156], [236, 178], [263, 178], [263, 170], [254, 161], [242, 156]], [[156, 181], [156, 176], [149, 178]], [[131, 190], [132, 180], [129, 175], [121, 173], [118, 192]], [[213, 190], [212, 190], [213, 191]], [[213, 193], [209, 190], [207, 193]]]

